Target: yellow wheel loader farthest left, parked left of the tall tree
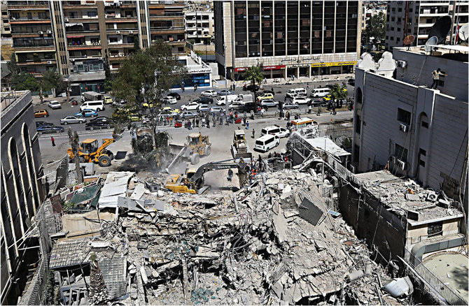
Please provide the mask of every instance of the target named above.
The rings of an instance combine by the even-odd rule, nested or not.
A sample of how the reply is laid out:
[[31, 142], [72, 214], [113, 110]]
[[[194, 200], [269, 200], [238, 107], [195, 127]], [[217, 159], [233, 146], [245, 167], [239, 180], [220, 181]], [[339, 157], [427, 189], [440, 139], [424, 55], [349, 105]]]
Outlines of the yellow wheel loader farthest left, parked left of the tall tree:
[[[81, 142], [78, 148], [78, 157], [80, 163], [99, 163], [99, 166], [107, 167], [111, 165], [111, 161], [114, 159], [114, 154], [106, 150], [108, 145], [111, 145], [115, 140], [114, 138], [103, 138], [102, 145], [99, 146], [97, 139], [85, 139]], [[75, 158], [71, 147], [66, 150], [69, 154], [69, 159], [72, 162]]]

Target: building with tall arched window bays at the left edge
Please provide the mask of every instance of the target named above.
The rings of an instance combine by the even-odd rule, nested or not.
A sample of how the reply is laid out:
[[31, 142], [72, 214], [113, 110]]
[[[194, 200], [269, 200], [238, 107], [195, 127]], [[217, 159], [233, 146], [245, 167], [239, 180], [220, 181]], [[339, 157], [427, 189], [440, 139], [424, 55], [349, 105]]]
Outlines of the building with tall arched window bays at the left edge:
[[46, 194], [31, 92], [2, 94], [0, 150], [1, 304], [14, 305], [27, 265], [37, 260], [38, 250], [27, 248], [25, 233]]

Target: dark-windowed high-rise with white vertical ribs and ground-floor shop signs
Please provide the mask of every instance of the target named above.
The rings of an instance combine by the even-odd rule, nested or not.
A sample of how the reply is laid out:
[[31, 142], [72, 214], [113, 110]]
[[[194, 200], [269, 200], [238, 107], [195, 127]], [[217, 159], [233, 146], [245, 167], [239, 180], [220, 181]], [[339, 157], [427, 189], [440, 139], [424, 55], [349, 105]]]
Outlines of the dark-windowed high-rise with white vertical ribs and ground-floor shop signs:
[[360, 52], [360, 1], [215, 1], [218, 71], [241, 80], [353, 71]]

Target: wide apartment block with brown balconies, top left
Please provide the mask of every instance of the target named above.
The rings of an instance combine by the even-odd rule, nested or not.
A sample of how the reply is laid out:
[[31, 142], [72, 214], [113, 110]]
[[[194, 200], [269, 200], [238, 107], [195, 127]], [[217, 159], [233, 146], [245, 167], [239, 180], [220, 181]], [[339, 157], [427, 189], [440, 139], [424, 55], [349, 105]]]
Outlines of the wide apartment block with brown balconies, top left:
[[57, 68], [72, 94], [104, 92], [105, 68], [117, 72], [136, 48], [157, 39], [186, 54], [183, 3], [174, 1], [8, 1], [13, 47], [22, 71]]

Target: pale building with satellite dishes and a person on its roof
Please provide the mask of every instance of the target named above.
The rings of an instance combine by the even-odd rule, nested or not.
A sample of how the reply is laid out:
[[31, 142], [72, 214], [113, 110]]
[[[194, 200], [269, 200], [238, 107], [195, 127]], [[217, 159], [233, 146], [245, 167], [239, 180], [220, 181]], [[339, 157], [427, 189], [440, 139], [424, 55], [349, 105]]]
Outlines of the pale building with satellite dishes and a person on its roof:
[[[370, 54], [362, 55], [356, 67], [353, 114], [356, 171], [388, 164], [393, 174], [412, 177], [423, 187], [444, 190], [455, 199], [459, 191], [464, 194], [468, 52], [460, 45], [441, 45], [433, 55], [421, 47], [394, 48], [395, 71], [390, 69], [392, 59], [387, 65], [384, 59], [374, 64]], [[431, 73], [437, 68], [447, 76], [440, 77], [438, 90], [430, 89]]]

